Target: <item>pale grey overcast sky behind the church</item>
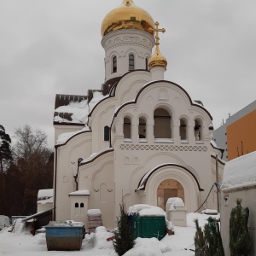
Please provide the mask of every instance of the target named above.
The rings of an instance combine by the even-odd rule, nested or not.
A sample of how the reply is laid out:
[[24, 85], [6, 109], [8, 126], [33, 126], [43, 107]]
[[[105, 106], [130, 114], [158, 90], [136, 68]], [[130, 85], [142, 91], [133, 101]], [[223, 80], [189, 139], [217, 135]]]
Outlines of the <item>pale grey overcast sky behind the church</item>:
[[[0, 0], [0, 125], [32, 125], [54, 145], [55, 94], [104, 79], [101, 25], [122, 0]], [[166, 33], [166, 80], [212, 114], [214, 128], [256, 100], [255, 0], [134, 0]], [[88, 72], [88, 69], [90, 72]]]

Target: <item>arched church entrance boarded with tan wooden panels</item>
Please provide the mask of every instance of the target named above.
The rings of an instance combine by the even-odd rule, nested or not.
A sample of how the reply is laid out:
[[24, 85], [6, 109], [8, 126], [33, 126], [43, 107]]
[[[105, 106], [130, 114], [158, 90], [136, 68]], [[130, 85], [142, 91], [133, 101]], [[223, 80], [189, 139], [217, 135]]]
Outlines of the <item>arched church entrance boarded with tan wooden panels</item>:
[[166, 179], [157, 188], [157, 206], [166, 211], [166, 201], [170, 197], [180, 197], [184, 201], [184, 189], [175, 179]]

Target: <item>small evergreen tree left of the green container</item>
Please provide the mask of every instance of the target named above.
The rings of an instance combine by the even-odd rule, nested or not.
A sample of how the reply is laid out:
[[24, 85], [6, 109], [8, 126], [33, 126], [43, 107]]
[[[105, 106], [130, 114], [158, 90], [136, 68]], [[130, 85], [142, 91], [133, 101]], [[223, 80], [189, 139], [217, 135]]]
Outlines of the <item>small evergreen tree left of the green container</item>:
[[119, 256], [124, 255], [135, 244], [134, 235], [131, 227], [131, 219], [126, 212], [125, 204], [120, 204], [119, 218], [117, 218], [117, 230], [113, 232], [113, 247]]

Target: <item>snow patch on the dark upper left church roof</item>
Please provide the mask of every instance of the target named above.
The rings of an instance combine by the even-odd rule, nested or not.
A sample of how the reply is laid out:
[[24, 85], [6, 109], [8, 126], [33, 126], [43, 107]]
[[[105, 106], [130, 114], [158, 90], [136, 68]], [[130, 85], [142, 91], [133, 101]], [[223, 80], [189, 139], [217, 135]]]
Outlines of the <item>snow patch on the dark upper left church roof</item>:
[[55, 122], [87, 124], [89, 114], [88, 101], [84, 100], [81, 102], [70, 102], [67, 106], [61, 106], [59, 108], [56, 108], [55, 112], [72, 113], [72, 121], [62, 119], [59, 115], [57, 115], [54, 118]]

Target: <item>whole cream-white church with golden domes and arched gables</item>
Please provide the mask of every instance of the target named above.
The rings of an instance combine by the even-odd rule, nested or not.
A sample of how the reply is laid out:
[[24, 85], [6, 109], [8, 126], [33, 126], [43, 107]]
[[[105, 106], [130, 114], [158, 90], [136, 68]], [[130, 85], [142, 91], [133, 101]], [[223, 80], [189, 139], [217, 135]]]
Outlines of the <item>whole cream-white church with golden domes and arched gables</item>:
[[[123, 1], [102, 21], [102, 88], [56, 95], [55, 220], [86, 224], [87, 210], [97, 208], [113, 228], [122, 199], [126, 207], [165, 209], [169, 197], [181, 197], [194, 212], [216, 182], [216, 155], [221, 181], [212, 116], [165, 80], [158, 26], [132, 0]], [[204, 207], [217, 209], [214, 189]]]

